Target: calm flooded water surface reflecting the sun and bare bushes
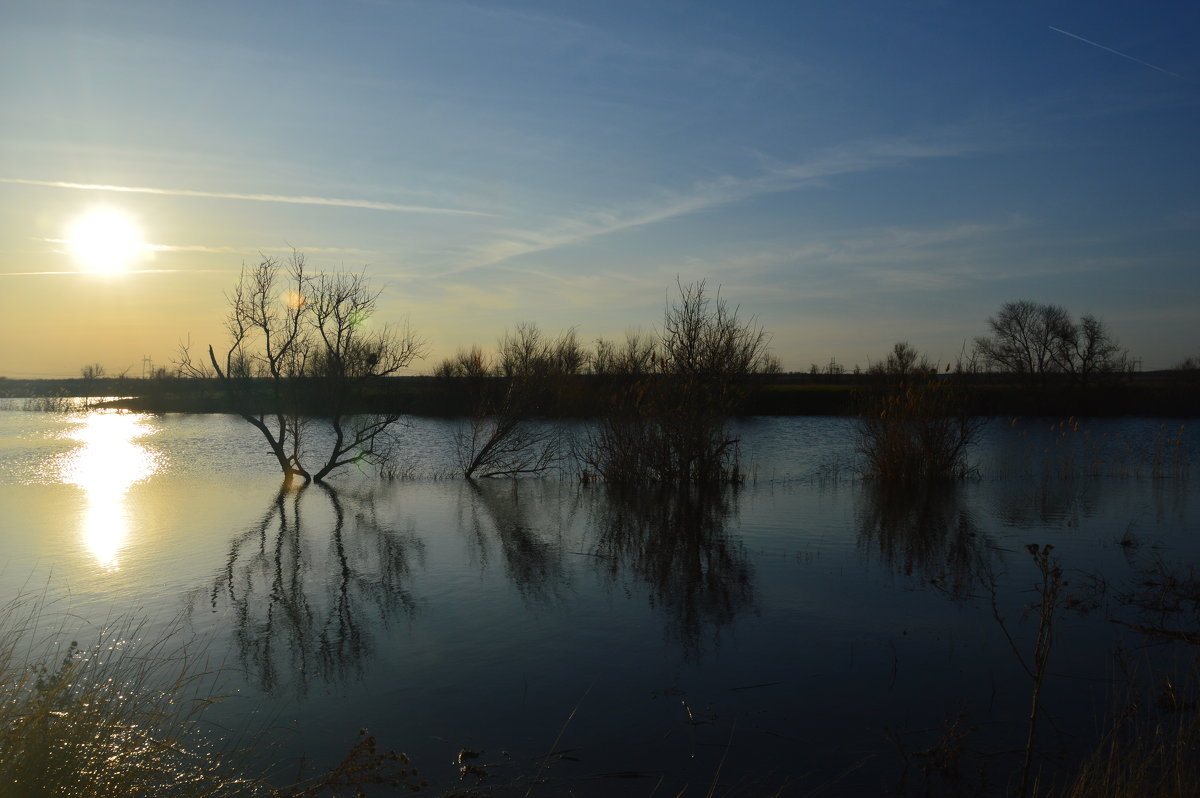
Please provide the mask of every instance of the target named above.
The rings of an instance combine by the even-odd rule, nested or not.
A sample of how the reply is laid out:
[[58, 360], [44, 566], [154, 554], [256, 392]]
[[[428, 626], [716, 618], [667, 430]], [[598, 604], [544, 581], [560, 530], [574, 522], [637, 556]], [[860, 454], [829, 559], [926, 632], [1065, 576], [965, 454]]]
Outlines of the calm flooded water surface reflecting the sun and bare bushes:
[[[704, 499], [364, 474], [280, 493], [232, 418], [2, 410], [0, 590], [84, 625], [182, 614], [228, 668], [216, 721], [294, 728], [283, 752], [325, 764], [366, 726], [445, 790], [475, 786], [468, 748], [484, 787], [540, 773], [533, 794], [886, 793], [960, 713], [1002, 786], [1031, 684], [992, 594], [1027, 655], [1026, 545], [1055, 546], [1075, 607], [1045, 768], [1087, 750], [1122, 664], [1178, 654], [1110, 622], [1141, 618], [1117, 596], [1147, 569], [1198, 562], [1178, 427], [996, 421], [979, 480], [919, 496], [851, 479], [852, 422], [804, 418], [743, 422], [754, 479]], [[451, 432], [414, 421], [415, 474], [449, 468]]]

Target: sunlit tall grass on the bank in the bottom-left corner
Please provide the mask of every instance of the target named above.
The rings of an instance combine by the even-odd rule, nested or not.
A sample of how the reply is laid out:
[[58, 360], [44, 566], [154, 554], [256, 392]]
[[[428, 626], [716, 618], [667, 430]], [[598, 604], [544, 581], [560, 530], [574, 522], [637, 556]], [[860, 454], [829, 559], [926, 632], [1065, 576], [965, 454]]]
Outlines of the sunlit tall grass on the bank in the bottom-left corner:
[[181, 630], [124, 617], [80, 643], [50, 614], [40, 596], [0, 610], [0, 796], [252, 792], [198, 733], [212, 674]]

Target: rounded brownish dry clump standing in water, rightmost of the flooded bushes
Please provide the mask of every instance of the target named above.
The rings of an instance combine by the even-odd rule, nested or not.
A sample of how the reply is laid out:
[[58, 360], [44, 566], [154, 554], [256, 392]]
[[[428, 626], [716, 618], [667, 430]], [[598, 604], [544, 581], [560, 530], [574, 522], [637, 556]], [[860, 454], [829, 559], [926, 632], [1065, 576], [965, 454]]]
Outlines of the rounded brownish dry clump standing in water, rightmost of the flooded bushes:
[[900, 382], [859, 416], [863, 475], [894, 484], [970, 476], [967, 454], [982, 425], [954, 385], [937, 378]]

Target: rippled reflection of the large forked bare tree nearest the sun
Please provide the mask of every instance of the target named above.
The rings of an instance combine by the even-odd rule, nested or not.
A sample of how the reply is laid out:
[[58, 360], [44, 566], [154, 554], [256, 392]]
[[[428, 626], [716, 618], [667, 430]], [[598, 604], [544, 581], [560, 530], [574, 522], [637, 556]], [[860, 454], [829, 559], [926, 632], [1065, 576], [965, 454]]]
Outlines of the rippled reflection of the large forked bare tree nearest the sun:
[[[328, 506], [312, 506], [322, 497]], [[259, 686], [302, 694], [314, 678], [358, 672], [372, 650], [364, 616], [386, 626], [415, 611], [408, 583], [422, 554], [420, 540], [380, 522], [371, 496], [284, 488], [233, 539], [210, 600], [215, 612], [228, 606], [242, 665]]]

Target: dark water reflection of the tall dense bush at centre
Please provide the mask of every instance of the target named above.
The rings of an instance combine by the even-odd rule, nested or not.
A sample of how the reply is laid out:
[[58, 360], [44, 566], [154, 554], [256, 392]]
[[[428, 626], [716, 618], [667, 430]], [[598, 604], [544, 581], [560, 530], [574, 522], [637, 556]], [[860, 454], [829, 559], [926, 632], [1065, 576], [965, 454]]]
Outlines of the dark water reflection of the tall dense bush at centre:
[[643, 582], [686, 655], [701, 653], [708, 630], [719, 644], [721, 629], [755, 604], [754, 570], [726, 532], [737, 488], [595, 490], [598, 566], [612, 582]]

